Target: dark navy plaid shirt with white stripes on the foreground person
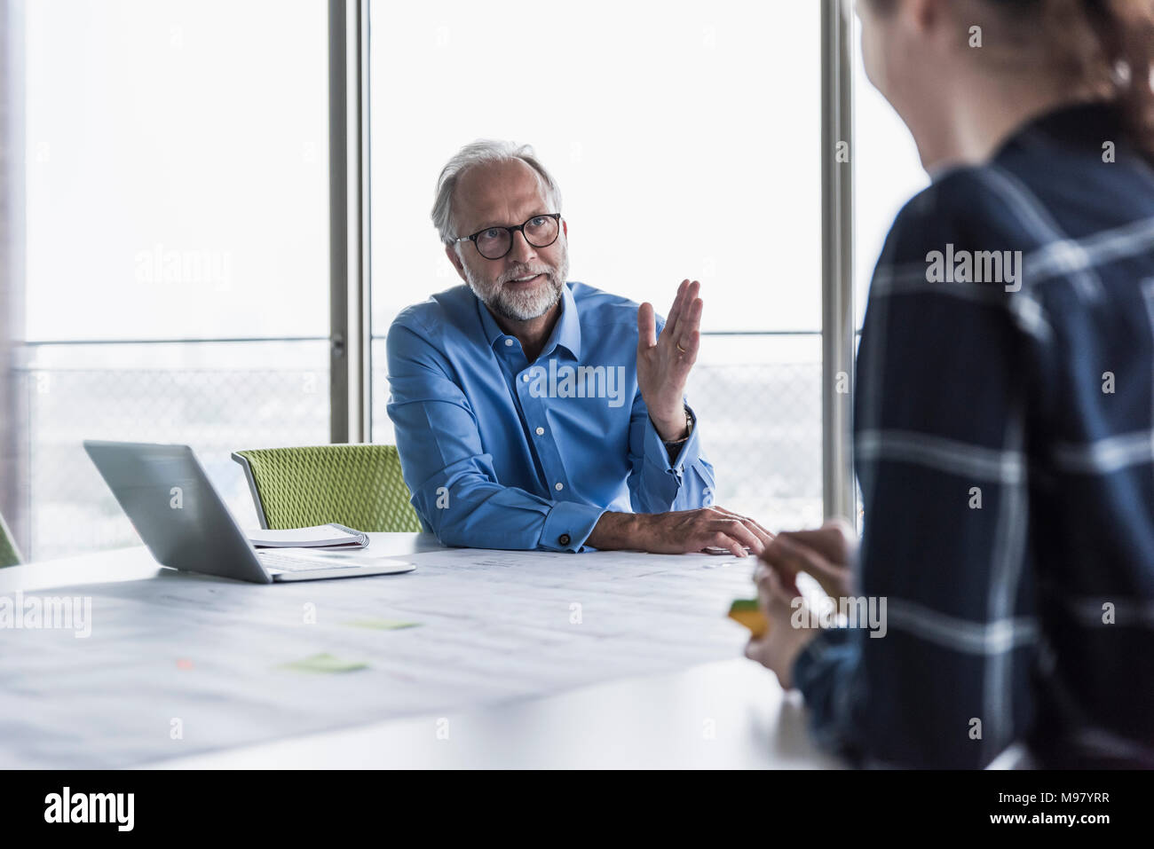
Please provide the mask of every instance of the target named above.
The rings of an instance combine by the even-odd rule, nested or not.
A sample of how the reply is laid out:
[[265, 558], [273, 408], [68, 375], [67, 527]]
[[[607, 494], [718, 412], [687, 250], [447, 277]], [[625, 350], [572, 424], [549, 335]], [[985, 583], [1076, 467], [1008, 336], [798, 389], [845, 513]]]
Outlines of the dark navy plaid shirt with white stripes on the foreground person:
[[[931, 251], [984, 281], [942, 281]], [[1021, 251], [1018, 281], [976, 251]], [[1036, 119], [906, 204], [854, 407], [857, 592], [887, 632], [799, 655], [819, 741], [864, 765], [1025, 742], [1044, 766], [1154, 767], [1152, 363], [1154, 172], [1111, 107]]]

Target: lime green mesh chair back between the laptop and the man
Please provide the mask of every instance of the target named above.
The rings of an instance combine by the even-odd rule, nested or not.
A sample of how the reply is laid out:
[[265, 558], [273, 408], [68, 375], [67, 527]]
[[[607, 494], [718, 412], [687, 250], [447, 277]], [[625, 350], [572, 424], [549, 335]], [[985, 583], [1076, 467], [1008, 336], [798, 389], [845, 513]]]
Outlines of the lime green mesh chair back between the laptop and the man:
[[394, 445], [252, 449], [232, 459], [245, 467], [261, 527], [424, 529]]

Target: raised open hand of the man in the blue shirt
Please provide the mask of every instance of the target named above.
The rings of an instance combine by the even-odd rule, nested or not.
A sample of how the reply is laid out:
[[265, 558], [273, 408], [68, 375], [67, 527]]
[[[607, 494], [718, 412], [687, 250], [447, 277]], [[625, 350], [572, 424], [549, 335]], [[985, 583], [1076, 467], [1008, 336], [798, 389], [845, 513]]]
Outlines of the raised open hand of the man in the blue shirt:
[[665, 442], [685, 437], [685, 381], [702, 340], [700, 287], [697, 280], [681, 281], [660, 338], [653, 305], [637, 308], [637, 389]]

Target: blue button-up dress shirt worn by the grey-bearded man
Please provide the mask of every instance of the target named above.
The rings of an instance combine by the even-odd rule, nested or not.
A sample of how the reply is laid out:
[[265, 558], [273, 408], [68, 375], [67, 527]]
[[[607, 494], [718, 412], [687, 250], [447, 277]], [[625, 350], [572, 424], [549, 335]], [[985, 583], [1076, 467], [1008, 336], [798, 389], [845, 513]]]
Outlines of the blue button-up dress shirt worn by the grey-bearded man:
[[531, 363], [477, 295], [456, 286], [403, 310], [387, 350], [405, 483], [445, 544], [582, 551], [606, 511], [713, 501], [700, 428], [670, 461], [649, 418], [637, 389], [637, 305], [625, 298], [565, 284], [561, 316]]

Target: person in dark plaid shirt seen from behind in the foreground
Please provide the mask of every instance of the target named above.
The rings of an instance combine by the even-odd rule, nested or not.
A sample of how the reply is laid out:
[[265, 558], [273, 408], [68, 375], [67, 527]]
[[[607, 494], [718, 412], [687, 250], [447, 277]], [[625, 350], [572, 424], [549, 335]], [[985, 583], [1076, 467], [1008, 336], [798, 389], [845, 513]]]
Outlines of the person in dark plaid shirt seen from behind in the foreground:
[[[932, 183], [870, 288], [860, 550], [780, 534], [747, 654], [859, 765], [1154, 767], [1154, 2], [857, 13]], [[794, 626], [799, 571], [884, 629]]]

